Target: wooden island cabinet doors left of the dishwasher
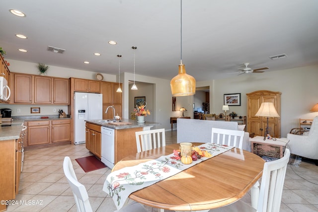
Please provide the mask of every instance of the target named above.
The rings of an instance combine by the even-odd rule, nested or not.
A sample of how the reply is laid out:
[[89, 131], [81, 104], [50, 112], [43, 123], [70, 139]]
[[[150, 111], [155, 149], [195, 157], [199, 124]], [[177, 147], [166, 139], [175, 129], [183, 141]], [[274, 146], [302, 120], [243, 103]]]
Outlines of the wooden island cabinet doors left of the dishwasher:
[[86, 148], [101, 158], [101, 126], [86, 123], [85, 130], [85, 145]]

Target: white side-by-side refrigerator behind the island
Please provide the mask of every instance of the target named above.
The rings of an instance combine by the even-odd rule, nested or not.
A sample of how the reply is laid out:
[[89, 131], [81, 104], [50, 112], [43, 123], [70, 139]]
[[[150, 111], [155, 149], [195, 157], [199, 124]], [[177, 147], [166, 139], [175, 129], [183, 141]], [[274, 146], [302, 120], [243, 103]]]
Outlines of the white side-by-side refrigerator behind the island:
[[74, 93], [74, 144], [85, 143], [85, 120], [103, 119], [103, 98], [100, 93]]

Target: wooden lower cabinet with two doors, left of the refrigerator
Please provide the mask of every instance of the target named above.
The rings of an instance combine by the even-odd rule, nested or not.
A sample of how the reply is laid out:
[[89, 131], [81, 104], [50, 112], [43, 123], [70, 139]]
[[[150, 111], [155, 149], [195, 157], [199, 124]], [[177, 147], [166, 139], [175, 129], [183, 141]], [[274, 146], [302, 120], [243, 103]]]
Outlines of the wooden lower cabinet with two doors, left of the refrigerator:
[[71, 143], [71, 120], [27, 121], [26, 149]]

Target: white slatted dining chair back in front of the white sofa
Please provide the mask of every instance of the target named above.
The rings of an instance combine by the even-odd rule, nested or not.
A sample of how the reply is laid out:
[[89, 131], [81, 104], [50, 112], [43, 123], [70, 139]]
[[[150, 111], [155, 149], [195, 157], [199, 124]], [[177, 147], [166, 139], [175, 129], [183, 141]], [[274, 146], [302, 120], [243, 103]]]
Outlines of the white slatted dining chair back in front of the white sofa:
[[244, 131], [212, 128], [211, 142], [242, 148]]

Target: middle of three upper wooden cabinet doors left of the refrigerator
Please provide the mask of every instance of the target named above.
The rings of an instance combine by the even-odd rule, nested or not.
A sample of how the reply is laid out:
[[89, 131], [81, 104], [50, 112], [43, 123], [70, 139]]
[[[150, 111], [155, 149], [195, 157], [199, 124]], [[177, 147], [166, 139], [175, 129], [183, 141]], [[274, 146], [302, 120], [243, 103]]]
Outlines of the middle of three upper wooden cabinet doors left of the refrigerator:
[[52, 103], [52, 78], [34, 76], [34, 103]]

